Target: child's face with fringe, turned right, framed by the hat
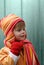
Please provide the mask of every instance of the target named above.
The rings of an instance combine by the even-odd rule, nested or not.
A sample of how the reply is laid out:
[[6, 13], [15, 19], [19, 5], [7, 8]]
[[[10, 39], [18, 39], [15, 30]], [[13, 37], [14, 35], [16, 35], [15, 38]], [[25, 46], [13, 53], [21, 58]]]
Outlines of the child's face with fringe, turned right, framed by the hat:
[[18, 41], [26, 39], [26, 30], [24, 22], [19, 22], [14, 28], [15, 39]]

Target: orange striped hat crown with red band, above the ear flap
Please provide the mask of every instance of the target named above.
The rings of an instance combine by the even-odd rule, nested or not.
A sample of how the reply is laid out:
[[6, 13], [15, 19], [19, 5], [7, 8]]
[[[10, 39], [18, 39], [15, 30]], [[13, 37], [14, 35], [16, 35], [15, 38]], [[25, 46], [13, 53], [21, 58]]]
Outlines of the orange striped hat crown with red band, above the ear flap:
[[15, 14], [9, 14], [1, 20], [0, 27], [7, 36], [8, 33], [12, 31], [14, 26], [20, 21], [23, 21], [20, 17], [16, 16]]

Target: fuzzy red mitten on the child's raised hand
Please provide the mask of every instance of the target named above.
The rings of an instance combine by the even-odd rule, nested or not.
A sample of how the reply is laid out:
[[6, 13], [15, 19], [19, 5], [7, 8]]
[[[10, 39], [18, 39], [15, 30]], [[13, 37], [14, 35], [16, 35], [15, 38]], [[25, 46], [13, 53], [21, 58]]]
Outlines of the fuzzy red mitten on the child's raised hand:
[[18, 56], [20, 54], [20, 51], [21, 51], [23, 45], [24, 44], [22, 41], [21, 42], [13, 42], [11, 44], [11, 52]]

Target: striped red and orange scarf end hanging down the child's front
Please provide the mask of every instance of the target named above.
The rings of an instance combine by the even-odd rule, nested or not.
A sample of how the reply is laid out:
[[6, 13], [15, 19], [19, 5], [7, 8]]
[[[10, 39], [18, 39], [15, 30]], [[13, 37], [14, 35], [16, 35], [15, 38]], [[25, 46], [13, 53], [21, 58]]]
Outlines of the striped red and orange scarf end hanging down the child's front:
[[28, 44], [25, 44], [25, 51], [26, 51], [26, 63], [27, 65], [40, 65], [36, 52], [31, 42], [26, 40]]

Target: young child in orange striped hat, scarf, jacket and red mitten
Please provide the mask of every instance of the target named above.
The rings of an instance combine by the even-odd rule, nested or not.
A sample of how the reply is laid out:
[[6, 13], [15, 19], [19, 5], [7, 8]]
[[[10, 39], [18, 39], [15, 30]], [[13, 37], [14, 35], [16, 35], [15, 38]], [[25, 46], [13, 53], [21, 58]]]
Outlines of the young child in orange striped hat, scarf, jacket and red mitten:
[[0, 21], [6, 38], [0, 50], [0, 65], [40, 65], [32, 43], [27, 40], [25, 22], [15, 14]]

